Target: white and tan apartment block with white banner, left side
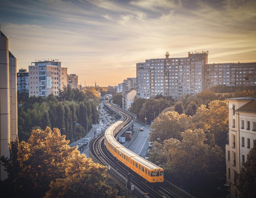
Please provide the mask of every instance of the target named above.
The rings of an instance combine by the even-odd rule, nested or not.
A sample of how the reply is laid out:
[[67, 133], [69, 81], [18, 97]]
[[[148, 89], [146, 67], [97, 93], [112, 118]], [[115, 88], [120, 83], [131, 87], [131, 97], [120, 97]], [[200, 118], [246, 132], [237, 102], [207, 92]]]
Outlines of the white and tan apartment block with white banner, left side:
[[[61, 62], [57, 60], [31, 62], [31, 66], [29, 66], [29, 97], [58, 95], [59, 89], [65, 84], [62, 73], [66, 72], [67, 68], [62, 68]], [[62, 80], [64, 84], [62, 84]]]

